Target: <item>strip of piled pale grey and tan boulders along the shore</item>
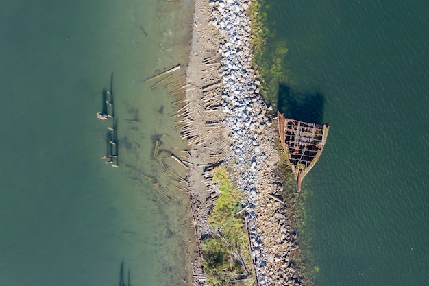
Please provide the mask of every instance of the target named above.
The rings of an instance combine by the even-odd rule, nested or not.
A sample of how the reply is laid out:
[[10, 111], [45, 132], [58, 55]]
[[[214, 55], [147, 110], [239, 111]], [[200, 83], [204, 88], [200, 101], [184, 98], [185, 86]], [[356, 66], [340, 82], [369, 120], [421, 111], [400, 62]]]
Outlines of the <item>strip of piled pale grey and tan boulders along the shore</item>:
[[230, 131], [227, 160], [236, 163], [238, 187], [247, 195], [246, 221], [259, 285], [303, 285], [301, 273], [290, 255], [297, 248], [296, 233], [280, 200], [282, 187], [275, 175], [278, 154], [275, 133], [260, 97], [252, 67], [248, 1], [210, 1], [210, 23], [226, 38], [219, 53], [223, 69], [221, 105]]

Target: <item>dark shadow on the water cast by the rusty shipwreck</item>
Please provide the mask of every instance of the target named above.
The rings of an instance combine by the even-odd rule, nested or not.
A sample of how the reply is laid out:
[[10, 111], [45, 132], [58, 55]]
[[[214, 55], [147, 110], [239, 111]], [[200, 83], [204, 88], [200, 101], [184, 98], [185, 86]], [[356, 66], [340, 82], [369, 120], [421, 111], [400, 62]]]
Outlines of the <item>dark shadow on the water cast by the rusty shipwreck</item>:
[[277, 100], [278, 110], [285, 117], [323, 124], [325, 97], [321, 93], [296, 93], [286, 84], [280, 83]]

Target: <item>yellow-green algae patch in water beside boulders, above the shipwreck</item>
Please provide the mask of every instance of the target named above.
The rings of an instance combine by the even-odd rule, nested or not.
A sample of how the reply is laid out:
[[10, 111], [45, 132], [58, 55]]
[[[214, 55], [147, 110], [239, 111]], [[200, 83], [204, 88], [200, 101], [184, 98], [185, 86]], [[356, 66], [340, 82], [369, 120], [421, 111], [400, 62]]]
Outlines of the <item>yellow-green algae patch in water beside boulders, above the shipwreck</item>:
[[267, 104], [277, 109], [278, 88], [280, 83], [289, 82], [289, 70], [286, 69], [286, 40], [275, 38], [275, 31], [268, 27], [267, 11], [270, 5], [265, 0], [252, 1], [248, 14], [252, 21], [253, 64], [260, 78], [260, 94]]

